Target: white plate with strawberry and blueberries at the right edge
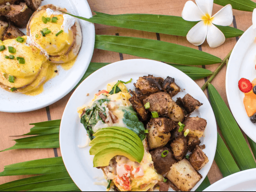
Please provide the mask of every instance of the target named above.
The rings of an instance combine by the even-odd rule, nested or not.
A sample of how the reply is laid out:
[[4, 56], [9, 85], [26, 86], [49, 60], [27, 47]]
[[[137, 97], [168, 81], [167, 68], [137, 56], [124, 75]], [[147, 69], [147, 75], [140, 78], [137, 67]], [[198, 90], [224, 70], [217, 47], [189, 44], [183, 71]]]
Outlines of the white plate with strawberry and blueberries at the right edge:
[[245, 31], [236, 43], [227, 65], [226, 92], [227, 101], [236, 122], [254, 142], [256, 142], [256, 125], [250, 121], [243, 103], [245, 94], [238, 88], [240, 78], [250, 81], [256, 78], [255, 56], [256, 44], [252, 26]]

